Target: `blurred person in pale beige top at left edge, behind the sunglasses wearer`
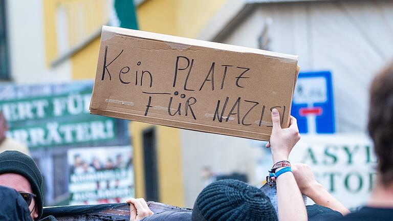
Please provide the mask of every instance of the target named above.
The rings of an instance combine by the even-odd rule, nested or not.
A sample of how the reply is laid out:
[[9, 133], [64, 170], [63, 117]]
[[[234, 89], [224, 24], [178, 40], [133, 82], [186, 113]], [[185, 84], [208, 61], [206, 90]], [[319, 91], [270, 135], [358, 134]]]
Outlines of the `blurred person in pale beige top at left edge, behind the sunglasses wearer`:
[[6, 118], [4, 117], [3, 113], [0, 112], [0, 152], [4, 152], [6, 150], [17, 150], [30, 155], [29, 148], [27, 148], [26, 145], [6, 136], [7, 131], [8, 124]]

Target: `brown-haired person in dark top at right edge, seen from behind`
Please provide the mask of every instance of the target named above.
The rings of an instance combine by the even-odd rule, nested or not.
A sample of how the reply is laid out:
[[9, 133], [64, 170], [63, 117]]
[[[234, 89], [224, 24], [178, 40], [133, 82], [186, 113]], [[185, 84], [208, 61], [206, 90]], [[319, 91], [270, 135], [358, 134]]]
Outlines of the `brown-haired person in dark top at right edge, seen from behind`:
[[367, 205], [338, 220], [393, 220], [393, 62], [370, 87], [368, 132], [378, 157], [377, 184]]

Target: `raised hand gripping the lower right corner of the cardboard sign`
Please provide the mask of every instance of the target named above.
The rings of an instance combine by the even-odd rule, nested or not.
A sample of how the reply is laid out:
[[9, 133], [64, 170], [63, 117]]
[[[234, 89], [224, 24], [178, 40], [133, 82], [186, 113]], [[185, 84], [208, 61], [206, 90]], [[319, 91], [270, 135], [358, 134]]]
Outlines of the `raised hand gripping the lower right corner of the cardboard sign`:
[[277, 109], [272, 110], [273, 129], [270, 142], [266, 147], [271, 147], [273, 163], [288, 160], [289, 153], [295, 144], [300, 140], [299, 129], [296, 118], [291, 116], [289, 127], [282, 129], [280, 125], [280, 115]]

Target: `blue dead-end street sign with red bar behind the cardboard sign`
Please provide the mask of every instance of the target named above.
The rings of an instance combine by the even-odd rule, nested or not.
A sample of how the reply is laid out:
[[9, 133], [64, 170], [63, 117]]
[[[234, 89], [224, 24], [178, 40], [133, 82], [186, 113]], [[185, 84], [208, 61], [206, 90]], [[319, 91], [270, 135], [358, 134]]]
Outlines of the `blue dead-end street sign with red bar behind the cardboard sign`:
[[291, 115], [302, 134], [334, 134], [332, 74], [329, 71], [302, 72], [296, 82]]

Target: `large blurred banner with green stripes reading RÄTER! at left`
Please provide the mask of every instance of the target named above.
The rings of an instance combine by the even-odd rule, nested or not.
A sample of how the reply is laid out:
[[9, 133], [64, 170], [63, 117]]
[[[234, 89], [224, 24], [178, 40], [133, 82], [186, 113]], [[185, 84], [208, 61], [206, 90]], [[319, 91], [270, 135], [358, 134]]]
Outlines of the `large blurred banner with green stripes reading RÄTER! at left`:
[[92, 90], [92, 81], [0, 84], [7, 137], [29, 147], [43, 175], [46, 205], [69, 203], [68, 150], [127, 146], [132, 151], [128, 121], [90, 114]]

